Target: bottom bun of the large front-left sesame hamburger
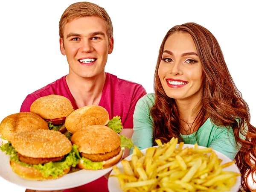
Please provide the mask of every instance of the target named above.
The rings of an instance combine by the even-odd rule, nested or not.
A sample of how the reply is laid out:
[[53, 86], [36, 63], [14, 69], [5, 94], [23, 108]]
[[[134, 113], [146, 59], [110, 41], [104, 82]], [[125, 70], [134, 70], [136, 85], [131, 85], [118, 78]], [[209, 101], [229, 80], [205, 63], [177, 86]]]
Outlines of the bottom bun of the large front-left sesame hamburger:
[[20, 163], [17, 163], [15, 161], [10, 161], [10, 166], [12, 168], [12, 171], [15, 172], [17, 175], [24, 179], [28, 180], [50, 180], [50, 179], [57, 179], [59, 177], [62, 177], [63, 175], [66, 175], [69, 171], [69, 169], [64, 170], [64, 174], [58, 175], [58, 177], [53, 178], [52, 176], [44, 177], [42, 173], [33, 167], [26, 167], [20, 165]]

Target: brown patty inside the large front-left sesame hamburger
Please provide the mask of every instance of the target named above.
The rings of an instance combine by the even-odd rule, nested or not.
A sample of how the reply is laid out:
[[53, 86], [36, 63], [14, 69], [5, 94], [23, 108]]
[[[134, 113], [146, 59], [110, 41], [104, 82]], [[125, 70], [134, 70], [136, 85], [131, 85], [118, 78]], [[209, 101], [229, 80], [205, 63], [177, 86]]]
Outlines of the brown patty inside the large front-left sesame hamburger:
[[64, 156], [62, 157], [53, 157], [53, 158], [32, 158], [32, 157], [25, 157], [19, 153], [17, 153], [19, 160], [23, 163], [32, 164], [32, 165], [38, 165], [39, 163], [49, 163], [50, 161], [55, 162], [62, 160]]

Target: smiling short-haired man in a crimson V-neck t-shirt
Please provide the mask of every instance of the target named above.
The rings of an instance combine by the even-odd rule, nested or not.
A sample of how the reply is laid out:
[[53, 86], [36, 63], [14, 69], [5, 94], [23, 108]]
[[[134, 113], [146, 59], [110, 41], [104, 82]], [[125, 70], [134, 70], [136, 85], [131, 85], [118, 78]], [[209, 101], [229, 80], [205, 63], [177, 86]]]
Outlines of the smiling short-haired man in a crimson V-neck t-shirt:
[[[113, 51], [113, 26], [108, 13], [93, 3], [74, 3], [61, 16], [59, 35], [69, 73], [29, 94], [20, 111], [30, 111], [30, 105], [39, 97], [57, 94], [67, 97], [75, 110], [86, 105], [100, 105], [108, 111], [110, 119], [121, 116], [124, 129], [120, 134], [131, 138], [134, 108], [146, 91], [140, 84], [105, 73], [108, 54]], [[127, 150], [124, 157], [129, 153]], [[107, 179], [101, 177], [65, 191], [107, 192]]]

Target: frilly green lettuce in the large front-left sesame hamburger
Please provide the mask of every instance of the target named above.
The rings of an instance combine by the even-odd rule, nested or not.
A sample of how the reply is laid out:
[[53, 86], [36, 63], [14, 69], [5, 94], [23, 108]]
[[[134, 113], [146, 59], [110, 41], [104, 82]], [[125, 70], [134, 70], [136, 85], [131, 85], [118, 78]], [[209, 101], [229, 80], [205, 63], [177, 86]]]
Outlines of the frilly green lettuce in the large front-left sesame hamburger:
[[[80, 160], [78, 145], [73, 145], [72, 150], [67, 154], [62, 160], [57, 162], [49, 162], [45, 164], [31, 165], [23, 163], [19, 160], [17, 156], [17, 151], [12, 147], [11, 143], [6, 143], [0, 147], [1, 151], [6, 151], [6, 154], [11, 155], [10, 160], [20, 163], [22, 166], [34, 167], [38, 169], [44, 177], [52, 176], [53, 178], [58, 177], [58, 175], [64, 174], [64, 170], [68, 169], [70, 166], [75, 167]], [[78, 155], [77, 155], [78, 154]], [[80, 157], [80, 158], [79, 158]]]

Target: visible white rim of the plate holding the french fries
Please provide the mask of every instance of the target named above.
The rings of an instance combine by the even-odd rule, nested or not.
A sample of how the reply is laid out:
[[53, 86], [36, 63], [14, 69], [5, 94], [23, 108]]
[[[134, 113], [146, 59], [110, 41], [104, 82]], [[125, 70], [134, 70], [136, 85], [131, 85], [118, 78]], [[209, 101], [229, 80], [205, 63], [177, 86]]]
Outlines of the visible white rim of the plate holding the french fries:
[[[176, 145], [176, 148], [179, 146], [179, 144]], [[158, 147], [158, 146], [155, 146], [155, 147]], [[186, 148], [186, 147], [189, 147], [189, 148], [194, 148], [194, 145], [190, 145], [190, 144], [184, 144], [183, 145], [183, 148]], [[205, 147], [202, 147], [202, 146], [198, 146], [198, 148], [205, 148]], [[213, 150], [215, 151], [215, 150]], [[143, 154], [146, 153], [146, 148], [141, 150], [141, 152]], [[232, 160], [230, 160], [229, 157], [227, 157], [226, 155], [218, 152], [218, 151], [215, 151], [216, 155], [218, 156], [219, 159], [222, 160], [221, 164], [224, 164], [224, 163], [227, 163], [227, 162], [230, 162]], [[125, 159], [126, 160], [131, 160], [131, 156], [132, 155], [129, 155], [128, 157], [126, 157]], [[121, 173], [124, 172], [124, 169], [122, 167], [122, 164], [121, 162], [119, 162], [118, 164], [116, 164], [116, 166], [118, 167], [118, 169], [120, 170]], [[239, 169], [238, 167], [236, 166], [236, 164], [233, 164], [229, 167], [226, 167], [223, 169], [224, 171], [232, 171], [232, 172], [237, 172], [237, 173], [240, 173], [239, 172]], [[112, 171], [110, 175], [115, 175], [115, 172]], [[238, 192], [239, 191], [239, 188], [240, 188], [240, 185], [241, 185], [241, 176], [239, 177], [236, 177], [236, 183], [235, 185], [231, 188], [231, 191], [230, 192]], [[120, 185], [119, 185], [119, 182], [118, 182], [118, 179], [116, 177], [109, 177], [108, 178], [108, 190], [109, 192], [122, 192], [122, 189], [120, 188]]]

